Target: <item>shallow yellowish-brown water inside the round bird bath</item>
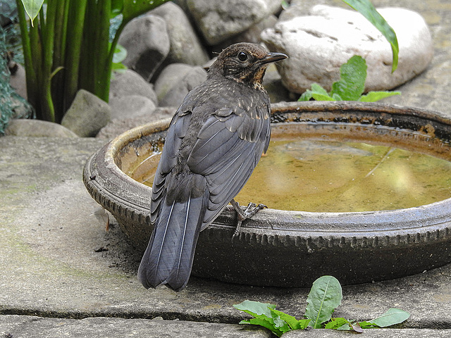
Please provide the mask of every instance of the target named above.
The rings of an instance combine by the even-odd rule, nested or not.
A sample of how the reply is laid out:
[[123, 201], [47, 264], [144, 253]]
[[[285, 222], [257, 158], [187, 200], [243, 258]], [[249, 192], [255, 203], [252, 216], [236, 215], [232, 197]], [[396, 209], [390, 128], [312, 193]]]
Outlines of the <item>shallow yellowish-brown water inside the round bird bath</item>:
[[[159, 154], [140, 157], [127, 174], [152, 186]], [[290, 211], [356, 212], [450, 197], [450, 161], [390, 146], [276, 138], [235, 200]]]

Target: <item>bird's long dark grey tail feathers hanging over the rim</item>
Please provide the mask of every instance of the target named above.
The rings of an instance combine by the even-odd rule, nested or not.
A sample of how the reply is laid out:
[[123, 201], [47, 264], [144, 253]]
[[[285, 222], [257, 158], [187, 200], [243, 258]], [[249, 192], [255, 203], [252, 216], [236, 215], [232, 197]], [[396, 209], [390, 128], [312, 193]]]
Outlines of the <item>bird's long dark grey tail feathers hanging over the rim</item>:
[[204, 219], [206, 194], [173, 201], [159, 212], [149, 245], [142, 257], [138, 278], [146, 287], [166, 284], [175, 291], [190, 279], [194, 250]]

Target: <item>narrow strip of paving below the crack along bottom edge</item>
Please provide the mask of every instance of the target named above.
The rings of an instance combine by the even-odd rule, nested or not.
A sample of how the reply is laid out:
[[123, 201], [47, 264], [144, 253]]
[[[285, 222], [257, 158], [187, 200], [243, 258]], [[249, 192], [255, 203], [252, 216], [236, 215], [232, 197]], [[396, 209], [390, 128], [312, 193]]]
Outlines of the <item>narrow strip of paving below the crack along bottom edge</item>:
[[[38, 333], [39, 332], [39, 333]], [[350, 337], [351, 332], [336, 330], [297, 330], [285, 338]], [[82, 337], [184, 337], [184, 338], [270, 338], [276, 337], [254, 325], [197, 323], [184, 320], [144, 320], [123, 318], [85, 318], [82, 320], [42, 318], [31, 315], [0, 315], [0, 337], [82, 338]], [[451, 330], [376, 329], [366, 330], [367, 338], [445, 338]]]

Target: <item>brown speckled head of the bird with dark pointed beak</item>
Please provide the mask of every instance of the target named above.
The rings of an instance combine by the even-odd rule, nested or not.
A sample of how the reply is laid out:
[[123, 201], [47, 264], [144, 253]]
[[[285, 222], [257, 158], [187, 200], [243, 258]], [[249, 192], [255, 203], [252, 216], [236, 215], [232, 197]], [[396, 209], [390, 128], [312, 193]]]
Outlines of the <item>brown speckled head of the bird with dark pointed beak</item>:
[[229, 80], [258, 86], [268, 63], [288, 58], [282, 53], [268, 53], [259, 44], [241, 42], [224, 49], [211, 65], [209, 76], [222, 75]]

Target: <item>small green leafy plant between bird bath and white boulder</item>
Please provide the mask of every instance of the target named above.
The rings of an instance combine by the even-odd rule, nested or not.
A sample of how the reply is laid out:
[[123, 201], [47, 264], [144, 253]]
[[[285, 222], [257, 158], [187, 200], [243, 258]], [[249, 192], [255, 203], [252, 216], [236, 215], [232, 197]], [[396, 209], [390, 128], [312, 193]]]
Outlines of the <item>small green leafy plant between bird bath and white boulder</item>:
[[362, 56], [354, 55], [347, 63], [340, 67], [340, 80], [333, 82], [332, 90], [328, 93], [321, 85], [311, 84], [299, 97], [298, 101], [362, 101], [375, 102], [385, 97], [400, 95], [401, 92], [369, 92], [362, 95], [365, 89], [366, 62]]

